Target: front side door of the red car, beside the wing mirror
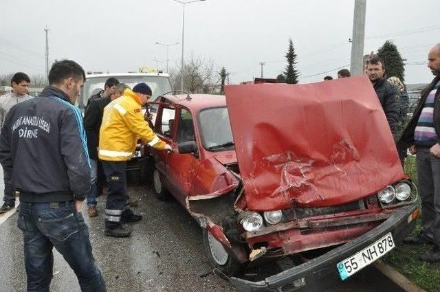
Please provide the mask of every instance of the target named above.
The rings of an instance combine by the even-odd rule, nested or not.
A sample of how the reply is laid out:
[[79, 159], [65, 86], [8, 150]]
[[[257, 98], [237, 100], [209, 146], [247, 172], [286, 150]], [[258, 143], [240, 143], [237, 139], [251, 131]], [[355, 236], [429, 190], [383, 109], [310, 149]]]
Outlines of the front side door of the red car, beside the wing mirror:
[[177, 189], [177, 195], [179, 196], [177, 199], [184, 203], [186, 196], [190, 196], [194, 192], [193, 182], [200, 162], [197, 153], [181, 154], [177, 150], [179, 143], [196, 142], [192, 114], [188, 109], [179, 107], [176, 117], [176, 135], [172, 142], [174, 151], [169, 153], [166, 158], [166, 170], [171, 183]]

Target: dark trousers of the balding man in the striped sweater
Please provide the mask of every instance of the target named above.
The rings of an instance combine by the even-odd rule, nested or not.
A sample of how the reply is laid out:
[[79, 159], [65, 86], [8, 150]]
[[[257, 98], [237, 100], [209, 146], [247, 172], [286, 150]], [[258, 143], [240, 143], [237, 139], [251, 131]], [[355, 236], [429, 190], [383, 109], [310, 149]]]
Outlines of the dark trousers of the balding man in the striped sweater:
[[417, 148], [417, 178], [421, 199], [422, 235], [440, 247], [440, 158], [429, 148]]

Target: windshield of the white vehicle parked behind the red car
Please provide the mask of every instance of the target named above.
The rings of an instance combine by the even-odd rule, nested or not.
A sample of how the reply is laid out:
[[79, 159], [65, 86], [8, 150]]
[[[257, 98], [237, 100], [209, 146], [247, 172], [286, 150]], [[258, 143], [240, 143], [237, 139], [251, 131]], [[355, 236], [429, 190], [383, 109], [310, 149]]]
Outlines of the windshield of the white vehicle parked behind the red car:
[[[94, 77], [86, 80], [83, 88], [83, 105], [87, 104], [87, 100], [94, 94], [104, 89], [104, 83], [109, 77]], [[126, 83], [133, 88], [137, 83], [145, 82], [153, 91], [151, 100], [157, 98], [164, 93], [171, 91], [171, 85], [166, 76], [115, 76], [120, 82]]]

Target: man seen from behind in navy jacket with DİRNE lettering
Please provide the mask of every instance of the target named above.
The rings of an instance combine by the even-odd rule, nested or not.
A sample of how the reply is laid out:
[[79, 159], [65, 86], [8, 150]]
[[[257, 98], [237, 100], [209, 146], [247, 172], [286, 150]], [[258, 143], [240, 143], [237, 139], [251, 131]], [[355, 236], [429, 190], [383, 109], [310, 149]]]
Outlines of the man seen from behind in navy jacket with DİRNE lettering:
[[81, 113], [74, 106], [83, 68], [61, 60], [50, 69], [39, 98], [13, 106], [0, 134], [5, 177], [20, 194], [28, 291], [49, 291], [55, 247], [74, 270], [82, 291], [106, 291], [91, 252], [83, 208], [90, 165]]

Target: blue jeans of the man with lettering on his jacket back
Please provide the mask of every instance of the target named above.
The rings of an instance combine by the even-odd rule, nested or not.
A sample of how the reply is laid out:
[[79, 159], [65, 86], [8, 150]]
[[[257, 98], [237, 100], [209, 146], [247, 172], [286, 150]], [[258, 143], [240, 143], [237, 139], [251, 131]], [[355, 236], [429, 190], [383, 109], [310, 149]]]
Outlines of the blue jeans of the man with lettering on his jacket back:
[[91, 252], [89, 229], [72, 202], [21, 201], [17, 225], [23, 231], [28, 291], [49, 291], [54, 247], [74, 270], [81, 291], [106, 291]]

